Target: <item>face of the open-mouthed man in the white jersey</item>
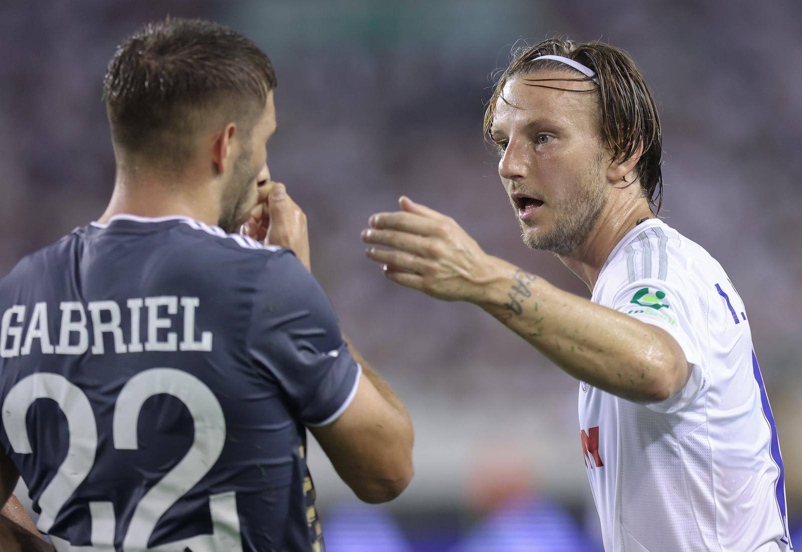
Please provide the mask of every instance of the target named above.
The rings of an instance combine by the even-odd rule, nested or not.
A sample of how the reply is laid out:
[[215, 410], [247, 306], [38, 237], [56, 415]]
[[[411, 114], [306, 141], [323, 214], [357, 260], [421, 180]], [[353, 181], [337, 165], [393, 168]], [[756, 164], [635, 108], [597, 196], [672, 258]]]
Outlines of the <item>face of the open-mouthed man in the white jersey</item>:
[[559, 91], [525, 79], [573, 76], [553, 70], [515, 75], [496, 102], [491, 127], [524, 243], [562, 256], [585, 242], [607, 202], [609, 155], [598, 131], [597, 93], [578, 92], [593, 87], [586, 82], [530, 82], [571, 90]]

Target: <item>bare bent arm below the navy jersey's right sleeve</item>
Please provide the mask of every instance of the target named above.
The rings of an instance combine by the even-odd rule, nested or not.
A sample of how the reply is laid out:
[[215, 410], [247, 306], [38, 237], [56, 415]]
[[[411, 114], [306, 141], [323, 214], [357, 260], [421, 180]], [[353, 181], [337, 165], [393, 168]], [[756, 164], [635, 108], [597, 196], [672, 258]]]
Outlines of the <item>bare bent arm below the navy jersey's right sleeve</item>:
[[412, 422], [390, 386], [350, 342], [348, 347], [362, 366], [357, 393], [334, 423], [310, 431], [360, 500], [387, 502], [407, 488], [414, 473]]

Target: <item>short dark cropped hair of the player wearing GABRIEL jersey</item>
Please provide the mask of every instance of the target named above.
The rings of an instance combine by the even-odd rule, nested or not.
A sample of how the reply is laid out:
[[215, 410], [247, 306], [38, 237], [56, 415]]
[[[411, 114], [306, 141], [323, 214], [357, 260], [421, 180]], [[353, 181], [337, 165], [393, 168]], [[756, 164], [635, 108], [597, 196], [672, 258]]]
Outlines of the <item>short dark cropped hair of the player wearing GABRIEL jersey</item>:
[[248, 38], [219, 23], [166, 18], [118, 47], [103, 99], [118, 147], [180, 163], [220, 111], [247, 135], [277, 85], [273, 64]]

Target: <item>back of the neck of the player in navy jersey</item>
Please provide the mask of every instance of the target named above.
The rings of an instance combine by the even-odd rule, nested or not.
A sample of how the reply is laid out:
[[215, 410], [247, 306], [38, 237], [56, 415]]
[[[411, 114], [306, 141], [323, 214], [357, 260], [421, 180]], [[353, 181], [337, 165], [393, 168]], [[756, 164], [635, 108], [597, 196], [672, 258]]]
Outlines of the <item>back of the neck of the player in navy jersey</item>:
[[214, 198], [213, 182], [197, 185], [196, 180], [176, 179], [175, 175], [147, 175], [117, 170], [114, 191], [98, 222], [107, 223], [115, 215], [136, 215], [149, 218], [188, 216], [206, 224], [217, 225], [220, 208]]

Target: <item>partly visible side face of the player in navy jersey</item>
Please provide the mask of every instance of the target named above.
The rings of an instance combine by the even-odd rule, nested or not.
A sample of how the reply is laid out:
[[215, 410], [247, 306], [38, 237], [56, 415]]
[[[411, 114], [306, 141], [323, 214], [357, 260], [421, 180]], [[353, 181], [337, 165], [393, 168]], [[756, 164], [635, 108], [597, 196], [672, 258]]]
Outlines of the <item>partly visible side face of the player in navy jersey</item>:
[[257, 187], [270, 179], [266, 144], [275, 131], [276, 107], [273, 91], [269, 91], [265, 109], [250, 135], [239, 140], [240, 153], [223, 188], [218, 226], [225, 232], [239, 231], [257, 203]]

